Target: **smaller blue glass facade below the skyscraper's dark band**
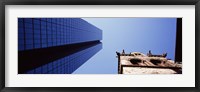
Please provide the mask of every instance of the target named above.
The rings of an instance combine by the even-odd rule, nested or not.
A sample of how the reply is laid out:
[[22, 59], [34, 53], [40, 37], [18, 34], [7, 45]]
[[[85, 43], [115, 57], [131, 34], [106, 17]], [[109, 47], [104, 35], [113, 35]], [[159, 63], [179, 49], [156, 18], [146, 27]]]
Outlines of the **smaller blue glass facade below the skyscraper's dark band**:
[[30, 70], [27, 74], [71, 74], [101, 49], [102, 44], [97, 44], [85, 50]]

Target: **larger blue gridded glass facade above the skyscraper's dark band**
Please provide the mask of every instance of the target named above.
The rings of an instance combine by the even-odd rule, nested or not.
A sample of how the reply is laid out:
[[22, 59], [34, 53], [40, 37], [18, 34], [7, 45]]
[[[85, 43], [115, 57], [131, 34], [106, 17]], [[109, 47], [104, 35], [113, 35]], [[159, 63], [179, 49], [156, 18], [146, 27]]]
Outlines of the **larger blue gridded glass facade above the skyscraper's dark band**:
[[102, 39], [102, 31], [80, 18], [18, 18], [19, 51]]

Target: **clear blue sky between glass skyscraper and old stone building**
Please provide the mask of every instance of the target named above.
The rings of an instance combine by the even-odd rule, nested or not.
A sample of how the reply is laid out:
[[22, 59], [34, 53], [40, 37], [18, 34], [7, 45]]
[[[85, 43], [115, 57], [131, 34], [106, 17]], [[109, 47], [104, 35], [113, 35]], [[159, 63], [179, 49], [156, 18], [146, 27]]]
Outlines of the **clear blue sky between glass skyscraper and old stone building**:
[[117, 74], [116, 51], [163, 54], [174, 60], [176, 18], [82, 18], [103, 31], [103, 48], [74, 74]]

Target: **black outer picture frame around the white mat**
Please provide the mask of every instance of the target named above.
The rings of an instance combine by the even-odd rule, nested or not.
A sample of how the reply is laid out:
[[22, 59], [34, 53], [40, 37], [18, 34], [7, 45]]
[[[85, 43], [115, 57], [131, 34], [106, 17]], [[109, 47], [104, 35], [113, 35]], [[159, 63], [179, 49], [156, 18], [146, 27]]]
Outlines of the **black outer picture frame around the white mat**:
[[[195, 5], [195, 87], [5, 87], [5, 6], [6, 5]], [[199, 39], [200, 0], [0, 0], [0, 91], [141, 91], [198, 92], [200, 91]]]

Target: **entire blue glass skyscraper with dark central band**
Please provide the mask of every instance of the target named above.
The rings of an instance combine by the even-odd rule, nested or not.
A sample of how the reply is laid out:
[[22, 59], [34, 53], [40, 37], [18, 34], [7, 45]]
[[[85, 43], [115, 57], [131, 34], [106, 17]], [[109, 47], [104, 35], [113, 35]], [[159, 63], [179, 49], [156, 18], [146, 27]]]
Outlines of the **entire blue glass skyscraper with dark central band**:
[[72, 73], [100, 40], [102, 30], [80, 18], [18, 18], [18, 73]]

